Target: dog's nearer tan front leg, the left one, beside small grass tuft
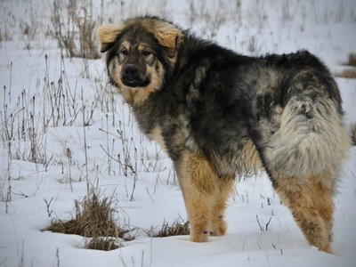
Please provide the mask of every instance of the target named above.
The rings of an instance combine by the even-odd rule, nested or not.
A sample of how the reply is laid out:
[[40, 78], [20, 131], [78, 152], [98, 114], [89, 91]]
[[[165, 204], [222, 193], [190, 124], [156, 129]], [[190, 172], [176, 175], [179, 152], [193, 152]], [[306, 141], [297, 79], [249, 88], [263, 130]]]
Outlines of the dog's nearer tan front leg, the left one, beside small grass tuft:
[[205, 242], [210, 234], [219, 177], [206, 158], [190, 152], [182, 154], [176, 171], [190, 221], [190, 240]]

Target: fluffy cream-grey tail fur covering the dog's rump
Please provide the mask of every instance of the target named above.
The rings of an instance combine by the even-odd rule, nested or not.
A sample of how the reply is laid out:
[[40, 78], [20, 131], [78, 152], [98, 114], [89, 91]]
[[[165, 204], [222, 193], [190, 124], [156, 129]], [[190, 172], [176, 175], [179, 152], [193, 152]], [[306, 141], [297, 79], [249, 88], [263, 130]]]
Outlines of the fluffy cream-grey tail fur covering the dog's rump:
[[341, 99], [332, 99], [324, 88], [309, 89], [290, 96], [265, 157], [279, 174], [308, 177], [328, 171], [336, 176], [350, 146]]

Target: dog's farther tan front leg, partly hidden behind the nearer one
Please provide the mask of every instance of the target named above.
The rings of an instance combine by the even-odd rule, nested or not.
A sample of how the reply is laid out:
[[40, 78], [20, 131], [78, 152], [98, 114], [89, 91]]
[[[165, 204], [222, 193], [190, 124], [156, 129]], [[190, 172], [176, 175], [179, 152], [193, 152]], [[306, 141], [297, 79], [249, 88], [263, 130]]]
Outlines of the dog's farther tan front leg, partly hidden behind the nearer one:
[[220, 177], [218, 189], [214, 194], [214, 206], [210, 231], [213, 236], [223, 236], [227, 226], [224, 220], [224, 212], [227, 206], [227, 199], [232, 193], [234, 176]]

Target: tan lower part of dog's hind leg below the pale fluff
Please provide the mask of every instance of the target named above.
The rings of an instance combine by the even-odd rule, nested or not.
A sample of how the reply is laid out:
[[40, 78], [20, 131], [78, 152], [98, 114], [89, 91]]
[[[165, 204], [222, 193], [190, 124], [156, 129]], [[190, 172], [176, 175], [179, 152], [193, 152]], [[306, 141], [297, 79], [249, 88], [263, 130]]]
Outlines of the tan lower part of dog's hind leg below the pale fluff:
[[282, 202], [287, 205], [295, 222], [308, 242], [320, 250], [331, 252], [334, 203], [333, 185], [325, 184], [326, 175], [312, 175], [301, 180], [275, 174], [275, 188]]

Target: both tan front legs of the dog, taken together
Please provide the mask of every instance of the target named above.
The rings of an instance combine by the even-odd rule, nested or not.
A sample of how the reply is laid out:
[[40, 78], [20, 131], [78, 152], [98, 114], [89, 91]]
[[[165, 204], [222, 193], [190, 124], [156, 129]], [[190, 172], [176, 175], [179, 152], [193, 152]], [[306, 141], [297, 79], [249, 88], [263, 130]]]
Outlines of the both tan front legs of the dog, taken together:
[[190, 220], [190, 240], [205, 242], [211, 232], [222, 235], [226, 231], [223, 211], [232, 179], [218, 177], [206, 158], [190, 152], [183, 154], [177, 171]]

